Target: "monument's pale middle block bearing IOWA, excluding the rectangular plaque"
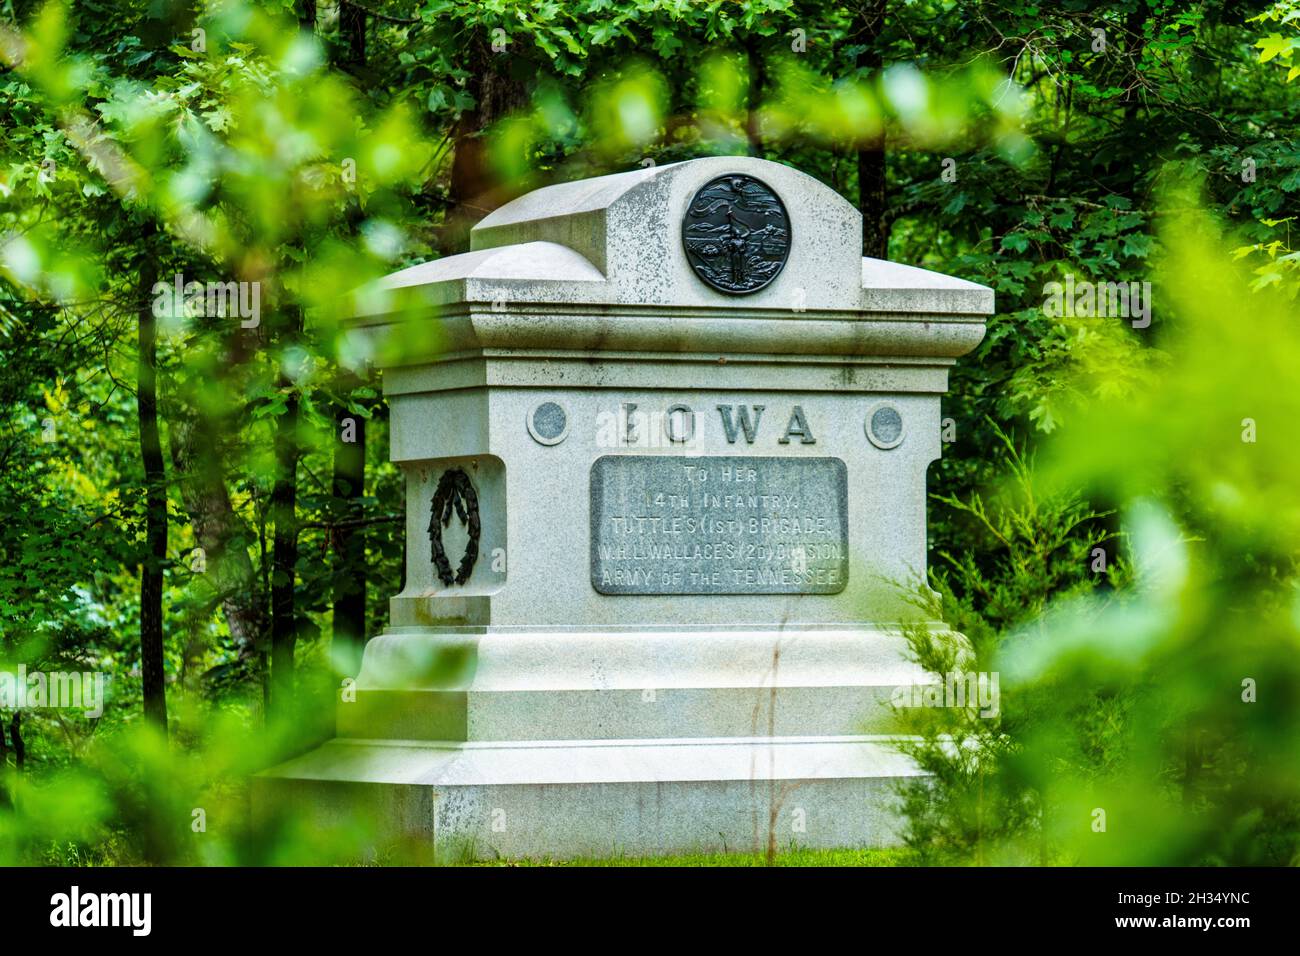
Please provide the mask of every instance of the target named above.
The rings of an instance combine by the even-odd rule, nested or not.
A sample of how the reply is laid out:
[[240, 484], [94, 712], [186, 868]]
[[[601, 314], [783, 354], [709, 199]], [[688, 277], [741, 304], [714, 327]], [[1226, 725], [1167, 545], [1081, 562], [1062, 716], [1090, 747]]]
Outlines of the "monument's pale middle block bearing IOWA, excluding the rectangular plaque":
[[[428, 551], [408, 551], [407, 587], [394, 598], [394, 624], [498, 627], [618, 627], [673, 624], [771, 624], [894, 622], [909, 609], [900, 584], [919, 581], [926, 564], [926, 471], [940, 454], [939, 401], [927, 393], [896, 393], [890, 405], [905, 423], [897, 446], [876, 447], [864, 423], [879, 394], [845, 385], [836, 392], [776, 392], [766, 381], [749, 390], [670, 389], [676, 365], [655, 363], [658, 388], [567, 386], [403, 392], [389, 395], [393, 459], [407, 473], [408, 541], [425, 537], [429, 505], [445, 467], [464, 467], [481, 502], [482, 558], [467, 587], [442, 587]], [[814, 372], [815, 373], [815, 369]], [[408, 381], [416, 376], [408, 376]], [[439, 384], [437, 368], [422, 381]], [[411, 382], [415, 385], [416, 382]], [[528, 416], [545, 402], [566, 408], [568, 433], [556, 445], [538, 442]], [[633, 407], [634, 406], [634, 407]], [[666, 411], [694, 415], [692, 434], [673, 442]], [[728, 441], [719, 406], [733, 418]], [[762, 407], [762, 412], [754, 410]], [[798, 418], [794, 414], [800, 410]], [[629, 411], [630, 410], [630, 411]], [[750, 442], [740, 421], [751, 416]], [[628, 418], [633, 440], [627, 438]], [[757, 423], [754, 421], [757, 418]], [[792, 420], [810, 429], [783, 444]], [[491, 449], [482, 454], [482, 449]], [[476, 457], [474, 453], [480, 451]], [[745, 455], [844, 462], [848, 584], [810, 593], [714, 593], [708, 600], [664, 601], [644, 593], [603, 594], [592, 579], [592, 470], [606, 455], [670, 459]], [[454, 520], [447, 553], [459, 553]], [[420, 536], [420, 537], [416, 537]], [[493, 555], [504, 561], [494, 563]]]

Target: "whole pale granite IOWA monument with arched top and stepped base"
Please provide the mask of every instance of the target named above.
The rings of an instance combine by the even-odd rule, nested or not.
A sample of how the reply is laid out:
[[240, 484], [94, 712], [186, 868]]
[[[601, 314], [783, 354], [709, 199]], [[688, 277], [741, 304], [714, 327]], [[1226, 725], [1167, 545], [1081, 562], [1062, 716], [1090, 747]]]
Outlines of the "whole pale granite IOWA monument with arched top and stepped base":
[[406, 584], [259, 792], [489, 857], [893, 842], [926, 470], [993, 294], [861, 237], [712, 157], [540, 189], [372, 290]]

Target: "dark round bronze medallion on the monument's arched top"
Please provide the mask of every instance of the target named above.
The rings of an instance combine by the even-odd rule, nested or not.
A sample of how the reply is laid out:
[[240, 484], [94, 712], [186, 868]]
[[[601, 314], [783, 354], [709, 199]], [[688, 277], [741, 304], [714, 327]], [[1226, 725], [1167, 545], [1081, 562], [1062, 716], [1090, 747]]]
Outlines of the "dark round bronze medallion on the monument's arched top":
[[686, 261], [714, 289], [757, 293], [785, 268], [790, 217], [764, 182], [733, 173], [705, 183], [681, 220]]

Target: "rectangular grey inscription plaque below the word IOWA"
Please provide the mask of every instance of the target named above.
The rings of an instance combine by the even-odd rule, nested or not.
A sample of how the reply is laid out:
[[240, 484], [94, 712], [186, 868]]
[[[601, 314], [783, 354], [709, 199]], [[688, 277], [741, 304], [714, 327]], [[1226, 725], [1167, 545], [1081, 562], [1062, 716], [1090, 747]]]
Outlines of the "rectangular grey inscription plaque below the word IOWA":
[[836, 594], [848, 498], [838, 458], [604, 455], [592, 464], [592, 587]]

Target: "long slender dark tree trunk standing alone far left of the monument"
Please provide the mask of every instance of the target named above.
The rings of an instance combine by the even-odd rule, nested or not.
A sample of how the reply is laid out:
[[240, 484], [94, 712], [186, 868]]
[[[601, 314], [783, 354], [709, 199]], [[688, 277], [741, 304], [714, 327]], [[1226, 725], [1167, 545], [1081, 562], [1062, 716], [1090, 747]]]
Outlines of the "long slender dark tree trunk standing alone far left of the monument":
[[[150, 258], [140, 271], [140, 289], [152, 289], [157, 264]], [[144, 541], [140, 562], [140, 674], [144, 719], [166, 735], [166, 683], [162, 667], [162, 564], [166, 561], [166, 470], [159, 437], [157, 317], [153, 303], [139, 307], [139, 352], [135, 364], [135, 408], [144, 463]]]

